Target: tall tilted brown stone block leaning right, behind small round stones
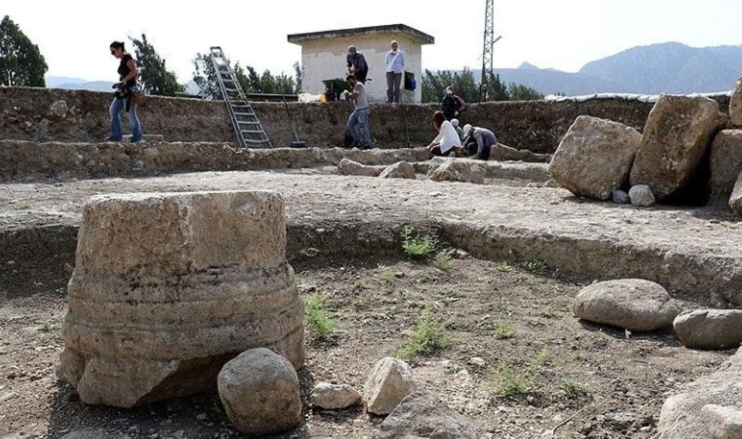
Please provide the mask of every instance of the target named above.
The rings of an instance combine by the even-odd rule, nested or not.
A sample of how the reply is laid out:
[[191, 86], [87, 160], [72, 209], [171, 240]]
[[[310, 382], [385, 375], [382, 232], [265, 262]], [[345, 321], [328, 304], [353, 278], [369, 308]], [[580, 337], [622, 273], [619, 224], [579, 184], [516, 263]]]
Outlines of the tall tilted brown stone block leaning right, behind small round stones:
[[662, 96], [649, 113], [631, 168], [631, 185], [649, 185], [661, 201], [694, 176], [720, 124], [718, 103], [706, 97]]

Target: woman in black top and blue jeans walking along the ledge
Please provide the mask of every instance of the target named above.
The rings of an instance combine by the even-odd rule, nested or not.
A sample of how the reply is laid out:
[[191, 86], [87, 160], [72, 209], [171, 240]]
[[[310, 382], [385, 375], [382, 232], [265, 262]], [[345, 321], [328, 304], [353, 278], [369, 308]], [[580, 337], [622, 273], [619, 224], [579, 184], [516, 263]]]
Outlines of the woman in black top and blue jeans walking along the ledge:
[[129, 122], [131, 122], [131, 142], [139, 142], [143, 137], [142, 124], [139, 123], [139, 116], [137, 116], [137, 105], [131, 102], [131, 97], [139, 91], [137, 87], [137, 79], [139, 79], [137, 62], [126, 52], [123, 42], [111, 43], [111, 55], [120, 59], [121, 62], [118, 70], [119, 83], [115, 86], [118, 90], [114, 102], [111, 102], [111, 108], [108, 110], [111, 113], [111, 136], [108, 137], [108, 140], [111, 142], [121, 141], [121, 117], [119, 113], [121, 113], [121, 110], [126, 110], [129, 113]]

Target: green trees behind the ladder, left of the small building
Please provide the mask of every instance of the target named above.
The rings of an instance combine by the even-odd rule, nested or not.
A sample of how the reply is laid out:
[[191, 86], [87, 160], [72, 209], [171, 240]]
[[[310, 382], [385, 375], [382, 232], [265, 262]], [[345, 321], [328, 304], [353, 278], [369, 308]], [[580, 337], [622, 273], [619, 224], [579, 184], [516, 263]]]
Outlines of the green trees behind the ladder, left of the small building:
[[[273, 75], [270, 70], [266, 69], [262, 74], [258, 74], [252, 66], [242, 67], [239, 62], [232, 65], [229, 59], [227, 62], [232, 66], [234, 76], [237, 77], [237, 82], [240, 82], [240, 87], [245, 93], [294, 94], [301, 90], [301, 67], [298, 62], [294, 64], [298, 81], [286, 73]], [[205, 99], [221, 99], [216, 72], [214, 72], [214, 66], [211, 65], [211, 55], [196, 54], [193, 76], [200, 90], [200, 96]]]

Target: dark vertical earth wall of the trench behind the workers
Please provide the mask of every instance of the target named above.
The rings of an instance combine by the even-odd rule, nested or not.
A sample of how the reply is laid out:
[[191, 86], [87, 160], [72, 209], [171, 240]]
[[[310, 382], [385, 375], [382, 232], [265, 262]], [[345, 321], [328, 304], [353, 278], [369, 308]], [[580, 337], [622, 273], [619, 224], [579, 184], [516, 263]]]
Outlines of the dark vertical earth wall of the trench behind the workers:
[[[0, 139], [35, 142], [101, 142], [108, 135], [111, 93], [47, 88], [0, 87]], [[728, 111], [729, 97], [718, 96]], [[66, 113], [58, 101], [65, 101]], [[489, 102], [469, 105], [460, 116], [470, 123], [491, 128], [500, 142], [536, 153], [553, 153], [562, 136], [580, 115], [611, 119], [642, 130], [651, 102], [590, 99], [585, 102]], [[347, 102], [327, 104], [256, 103], [275, 147], [298, 136], [310, 146], [342, 146], [345, 124], [351, 112]], [[375, 145], [400, 148], [427, 145], [436, 135], [430, 118], [439, 105], [372, 105], [371, 131]], [[234, 133], [226, 108], [220, 101], [151, 96], [140, 109], [145, 133], [162, 134], [168, 142], [233, 142]], [[125, 129], [128, 124], [124, 124]]]

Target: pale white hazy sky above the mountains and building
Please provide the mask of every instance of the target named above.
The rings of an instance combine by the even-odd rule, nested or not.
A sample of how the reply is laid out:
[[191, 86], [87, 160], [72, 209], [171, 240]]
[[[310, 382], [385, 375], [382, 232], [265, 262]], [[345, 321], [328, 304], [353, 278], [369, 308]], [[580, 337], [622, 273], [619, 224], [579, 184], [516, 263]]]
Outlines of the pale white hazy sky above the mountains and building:
[[[210, 9], [217, 4], [229, 7]], [[191, 79], [194, 54], [211, 45], [257, 70], [291, 73], [301, 49], [286, 42], [289, 33], [394, 23], [436, 38], [424, 48], [424, 68], [479, 67], [484, 9], [485, 0], [220, 0], [198, 6], [157, 0], [0, 0], [0, 16], [10, 15], [39, 44], [48, 75], [112, 81], [117, 63], [108, 44], [128, 43], [127, 36], [142, 32], [180, 82]], [[494, 62], [495, 67], [528, 61], [577, 71], [585, 62], [637, 45], [738, 45], [741, 16], [742, 0], [495, 0], [495, 32], [502, 39]], [[344, 69], [338, 65], [338, 76]]]

